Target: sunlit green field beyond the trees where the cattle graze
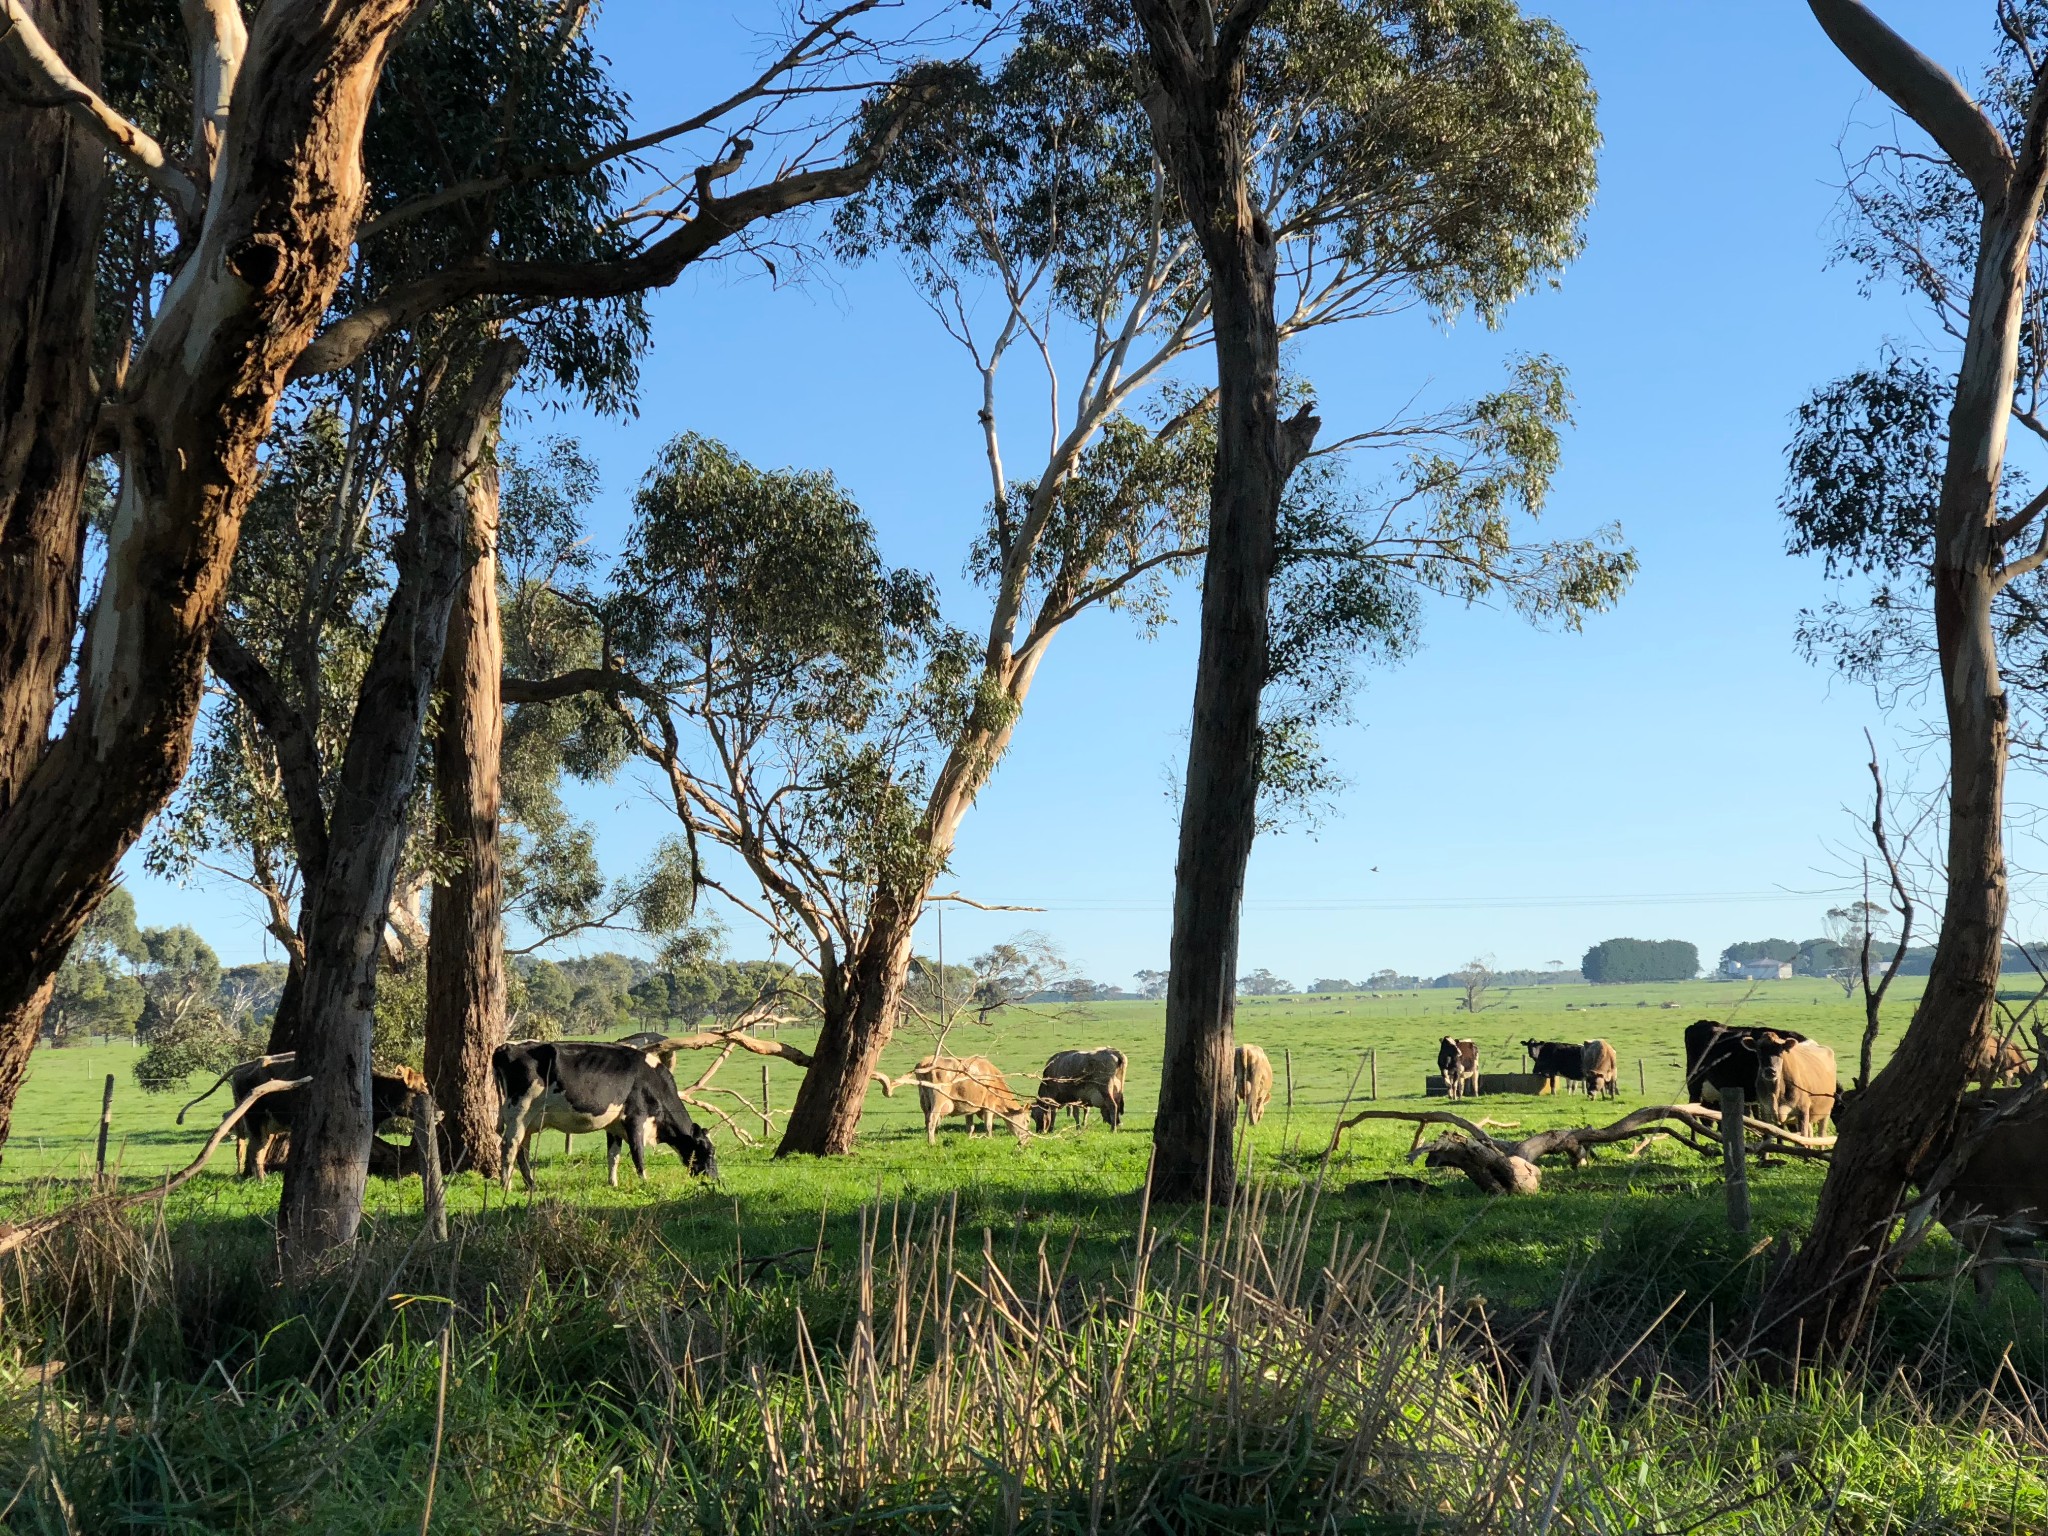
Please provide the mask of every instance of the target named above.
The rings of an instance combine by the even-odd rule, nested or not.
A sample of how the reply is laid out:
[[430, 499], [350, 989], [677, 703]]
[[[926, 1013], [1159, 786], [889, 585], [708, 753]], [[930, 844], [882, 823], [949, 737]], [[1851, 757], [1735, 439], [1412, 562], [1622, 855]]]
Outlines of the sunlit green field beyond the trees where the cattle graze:
[[[1911, 997], [1901, 987], [1894, 1004], [1901, 1024]], [[1757, 987], [1524, 987], [1501, 993], [1479, 1016], [1456, 1012], [1448, 991], [1245, 999], [1237, 1036], [1266, 1047], [1278, 1079], [1264, 1122], [1245, 1135], [1245, 1155], [1255, 1176], [1280, 1184], [1311, 1178], [1348, 1094], [1354, 1110], [1366, 1108], [1374, 1069], [1378, 1108], [1432, 1104], [1423, 1098], [1423, 1077], [1434, 1071], [1436, 1042], [1446, 1032], [1477, 1036], [1481, 1065], [1505, 1071], [1520, 1069], [1522, 1038], [1610, 1040], [1622, 1065], [1620, 1102], [1589, 1104], [1577, 1094], [1491, 1096], [1475, 1100], [1470, 1110], [1526, 1128], [1602, 1124], [1636, 1104], [1683, 1098], [1683, 1026], [1694, 1018], [1729, 1016], [1798, 1028], [1837, 1049], [1843, 1077], [1853, 1071], [1860, 1006], [1845, 1004], [1839, 987], [1804, 979]], [[926, 1145], [913, 1092], [893, 1098], [872, 1092], [852, 1157], [776, 1161], [760, 1143], [758, 1116], [748, 1118], [731, 1106], [735, 1122], [750, 1128], [756, 1141], [741, 1145], [729, 1128], [715, 1128], [723, 1165], [717, 1186], [688, 1178], [674, 1155], [657, 1151], [649, 1157], [645, 1184], [627, 1165], [614, 1192], [604, 1184], [602, 1137], [580, 1137], [565, 1155], [563, 1139], [545, 1135], [537, 1155], [541, 1196], [567, 1198], [618, 1219], [649, 1214], [672, 1251], [700, 1270], [729, 1264], [735, 1249], [778, 1253], [809, 1247], [819, 1231], [827, 1243], [850, 1245], [858, 1208], [877, 1198], [905, 1204], [958, 1198], [963, 1221], [1004, 1233], [1012, 1245], [1040, 1239], [1065, 1245], [1071, 1239], [1083, 1268], [1106, 1266], [1128, 1243], [1139, 1219], [1135, 1192], [1143, 1186], [1151, 1147], [1161, 1026], [1159, 1004], [1118, 1001], [1012, 1010], [987, 1026], [958, 1022], [950, 1034], [948, 1049], [989, 1055], [1026, 1094], [1036, 1085], [1047, 1055], [1059, 1047], [1122, 1047], [1130, 1057], [1130, 1116], [1120, 1135], [1106, 1133], [1100, 1120], [1085, 1130], [1063, 1122], [1055, 1135], [1018, 1147], [1006, 1133], [969, 1137], [965, 1124], [954, 1120], [934, 1149]], [[791, 1030], [788, 1038], [807, 1042], [799, 1030]], [[905, 1030], [891, 1044], [885, 1065], [907, 1071], [930, 1044], [928, 1032]], [[106, 1073], [117, 1077], [109, 1161], [119, 1165], [123, 1178], [141, 1186], [150, 1176], [190, 1159], [227, 1108], [225, 1092], [195, 1110], [188, 1124], [176, 1126], [178, 1104], [205, 1083], [150, 1096], [135, 1087], [131, 1061], [133, 1047], [125, 1044], [72, 1047], [35, 1059], [0, 1169], [0, 1198], [18, 1208], [70, 1198], [74, 1182], [92, 1165]], [[756, 1059], [735, 1059], [719, 1081], [743, 1087], [758, 1102], [760, 1069]], [[688, 1075], [686, 1065], [678, 1073]], [[772, 1063], [768, 1073], [770, 1102], [791, 1104], [797, 1071]], [[1434, 1104], [1442, 1106], [1442, 1100]], [[1419, 1264], [1456, 1262], [1464, 1282], [1495, 1305], [1542, 1307], [1569, 1266], [1583, 1260], [1602, 1233], [1616, 1229], [1649, 1223], [1665, 1233], [1657, 1241], [1675, 1245], [1673, 1251], [1688, 1243], [1704, 1243], [1700, 1251], [1720, 1247], [1718, 1167], [1669, 1143], [1653, 1143], [1634, 1157], [1614, 1149], [1585, 1169], [1550, 1167], [1540, 1202], [1499, 1204], [1477, 1196], [1462, 1176], [1409, 1165], [1403, 1157], [1409, 1141], [1411, 1126], [1403, 1122], [1366, 1122], [1350, 1130], [1331, 1159], [1329, 1214], [1352, 1225], [1389, 1214], [1395, 1241], [1413, 1249]], [[1380, 1182], [1393, 1176], [1417, 1176], [1427, 1190], [1389, 1190]], [[1817, 1178], [1810, 1165], [1798, 1163], [1757, 1169], [1757, 1237], [1796, 1231], [1810, 1208]], [[276, 1180], [266, 1186], [236, 1180], [231, 1157], [223, 1151], [207, 1174], [178, 1192], [172, 1210], [246, 1229], [274, 1210], [276, 1188]], [[514, 1190], [512, 1202], [522, 1206], [526, 1198]], [[418, 1200], [414, 1182], [373, 1182], [371, 1212], [377, 1219], [406, 1221], [418, 1210]], [[475, 1176], [459, 1176], [451, 1184], [451, 1208], [457, 1212], [502, 1208], [504, 1200], [496, 1186]]]

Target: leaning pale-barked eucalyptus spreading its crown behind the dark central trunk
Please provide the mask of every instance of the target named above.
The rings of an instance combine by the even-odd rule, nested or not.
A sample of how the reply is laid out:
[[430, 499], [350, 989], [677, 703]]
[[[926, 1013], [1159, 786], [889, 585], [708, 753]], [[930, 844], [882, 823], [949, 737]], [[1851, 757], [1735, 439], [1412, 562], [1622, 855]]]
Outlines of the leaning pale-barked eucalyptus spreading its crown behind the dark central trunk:
[[[1505, 4], [1305, 0], [1272, 10], [1249, 57], [1247, 174], [1270, 219], [1278, 338], [1413, 307], [1491, 319], [1575, 250], [1595, 133], [1583, 70], [1554, 29]], [[989, 500], [967, 565], [987, 612], [971, 707], [907, 819], [920, 856], [870, 907], [877, 958], [860, 975], [874, 997], [827, 1020], [784, 1151], [850, 1147], [909, 928], [1053, 643], [1092, 608], [1161, 623], [1174, 578], [1212, 543], [1219, 397], [1176, 383], [1176, 369], [1214, 340], [1214, 285], [1182, 188], [1153, 154], [1151, 72], [1124, 8], [1040, 0], [997, 63], [926, 78], [942, 78], [940, 104], [836, 223], [844, 254], [903, 260], [973, 369]], [[1004, 383], [1018, 367], [1042, 379], [1018, 408], [1026, 440], [1053, 424], [1028, 471], [1006, 436]], [[1386, 500], [1331, 496], [1323, 481], [1296, 504], [1300, 598], [1350, 565], [1319, 535], [1341, 528], [1339, 543], [1372, 559], [1321, 610], [1341, 618], [1321, 631], [1335, 643], [1296, 606], [1303, 623], [1282, 649], [1300, 664], [1298, 707], [1276, 709], [1260, 737], [1268, 795], [1315, 786], [1311, 727], [1333, 700], [1311, 678], [1341, 672], [1323, 668], [1333, 651], [1393, 647], [1403, 584], [1475, 598], [1516, 586], [1559, 616], [1612, 598], [1628, 569], [1612, 541], [1538, 549], [1513, 526], [1540, 504], [1561, 422], [1556, 373], [1530, 362], [1483, 401], [1343, 438], [1407, 446], [1415, 461]], [[1251, 676], [1253, 694], [1272, 682], [1262, 666]], [[1225, 1010], [1229, 977], [1227, 961], [1212, 977]]]

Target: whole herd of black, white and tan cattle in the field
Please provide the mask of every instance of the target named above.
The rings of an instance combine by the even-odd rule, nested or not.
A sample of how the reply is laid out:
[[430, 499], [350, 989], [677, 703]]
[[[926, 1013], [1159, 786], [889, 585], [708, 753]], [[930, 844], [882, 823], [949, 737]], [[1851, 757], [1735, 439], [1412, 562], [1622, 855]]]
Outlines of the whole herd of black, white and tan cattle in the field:
[[[711, 1135], [692, 1120], [676, 1085], [670, 1065], [674, 1049], [674, 1042], [653, 1034], [625, 1040], [516, 1040], [498, 1047], [492, 1075], [500, 1102], [504, 1186], [510, 1188], [512, 1169], [518, 1167], [526, 1188], [535, 1188], [528, 1143], [541, 1130], [602, 1130], [614, 1188], [621, 1151], [633, 1155], [635, 1171], [645, 1178], [645, 1151], [657, 1143], [672, 1147], [692, 1174], [717, 1178], [719, 1159]], [[1606, 1040], [1524, 1040], [1522, 1051], [1530, 1073], [1540, 1079], [1538, 1092], [1548, 1092], [1563, 1079], [1583, 1083], [1589, 1096], [1618, 1094], [1614, 1047]], [[289, 1077], [291, 1063], [291, 1055], [242, 1063], [199, 1100], [221, 1085], [244, 1100], [262, 1081]], [[969, 1133], [979, 1128], [987, 1135], [1001, 1120], [1024, 1141], [1034, 1130], [1053, 1130], [1061, 1110], [1075, 1124], [1085, 1124], [1087, 1112], [1098, 1110], [1104, 1124], [1116, 1130], [1124, 1120], [1126, 1069], [1128, 1059], [1114, 1047], [1059, 1051], [1044, 1063], [1038, 1094], [1030, 1102], [1012, 1092], [1001, 1069], [987, 1057], [930, 1055], [918, 1063], [913, 1081], [928, 1141], [938, 1141], [938, 1126], [950, 1116], [965, 1116]], [[1438, 1069], [1452, 1098], [1479, 1092], [1477, 1040], [1444, 1036], [1438, 1044]], [[1985, 1092], [1974, 1096], [1974, 1108], [1989, 1112], [2005, 1104], [2007, 1090], [1999, 1090], [1999, 1083], [2025, 1069], [2025, 1059], [2011, 1042], [1989, 1047], [1976, 1063]], [[1233, 1075], [1237, 1100], [1251, 1124], [1257, 1124], [1272, 1102], [1272, 1059], [1255, 1044], [1239, 1044]], [[1817, 1040], [1794, 1030], [1714, 1020], [1688, 1026], [1688, 1098], [1696, 1104], [1720, 1104], [1722, 1094], [1737, 1090], [1745, 1112], [1808, 1137], [1827, 1130], [1845, 1098], [1835, 1079], [1835, 1053]], [[426, 1081], [410, 1067], [373, 1071], [373, 1120], [383, 1126], [410, 1116], [416, 1098], [424, 1094]], [[244, 1176], [264, 1178], [270, 1149], [279, 1137], [291, 1135], [303, 1100], [303, 1087], [266, 1094], [248, 1120], [238, 1124]], [[178, 1112], [180, 1122], [184, 1110]], [[412, 1171], [389, 1143], [379, 1141], [377, 1147], [385, 1149], [387, 1165], [373, 1161], [373, 1171]], [[1991, 1126], [1942, 1192], [1937, 1217], [1974, 1249], [1980, 1288], [1989, 1286], [1989, 1262], [2009, 1260], [2009, 1247], [2048, 1237], [2048, 1100], [2032, 1102]]]

